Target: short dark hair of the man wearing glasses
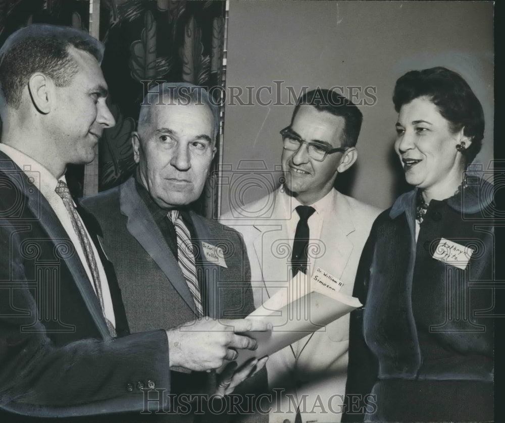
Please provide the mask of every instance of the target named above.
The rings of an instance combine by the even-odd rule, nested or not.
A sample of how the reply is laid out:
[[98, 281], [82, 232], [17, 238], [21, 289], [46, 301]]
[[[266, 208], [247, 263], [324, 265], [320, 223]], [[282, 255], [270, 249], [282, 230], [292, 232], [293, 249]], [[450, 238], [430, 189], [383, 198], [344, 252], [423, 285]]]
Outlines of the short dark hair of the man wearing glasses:
[[332, 115], [342, 117], [345, 122], [342, 146], [354, 147], [356, 145], [358, 136], [360, 135], [363, 115], [356, 104], [348, 98], [338, 92], [324, 88], [316, 88], [309, 91], [298, 98], [293, 117], [291, 118], [291, 125], [301, 105], [311, 105], [320, 112], [328, 112]]

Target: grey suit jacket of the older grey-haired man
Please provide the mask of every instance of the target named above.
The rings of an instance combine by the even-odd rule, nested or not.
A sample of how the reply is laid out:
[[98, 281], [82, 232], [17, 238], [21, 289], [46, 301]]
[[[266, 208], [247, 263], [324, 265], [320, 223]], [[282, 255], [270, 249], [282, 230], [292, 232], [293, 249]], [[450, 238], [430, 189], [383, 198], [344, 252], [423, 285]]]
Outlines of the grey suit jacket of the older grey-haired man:
[[[118, 275], [131, 331], [168, 329], [192, 321], [195, 306], [189, 288], [177, 259], [139, 196], [135, 180], [131, 178], [119, 187], [84, 198], [82, 204], [102, 227], [104, 248]], [[207, 261], [201, 254], [208, 314], [214, 319], [245, 317], [254, 310], [254, 303], [241, 236], [194, 213], [191, 218], [199, 248], [203, 248], [203, 242], [221, 247], [227, 266]], [[214, 392], [207, 373], [179, 369], [172, 374], [174, 393]], [[257, 377], [252, 378], [255, 389], [266, 391], [266, 373]]]

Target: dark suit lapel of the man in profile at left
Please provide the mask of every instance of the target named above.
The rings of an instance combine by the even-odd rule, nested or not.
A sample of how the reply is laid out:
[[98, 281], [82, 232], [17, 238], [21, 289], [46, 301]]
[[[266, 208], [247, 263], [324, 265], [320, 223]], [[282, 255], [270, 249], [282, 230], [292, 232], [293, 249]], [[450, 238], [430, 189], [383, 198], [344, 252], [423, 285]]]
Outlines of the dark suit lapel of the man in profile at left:
[[[26, 197], [28, 208], [33, 216], [35, 216], [40, 226], [45, 230], [48, 238], [55, 244], [55, 248], [60, 242], [70, 242], [68, 234], [51, 205], [49, 205], [38, 189], [31, 188], [32, 185], [28, 182], [25, 173], [2, 151], [0, 151], [0, 170], [4, 172], [7, 178], [9, 178]], [[96, 297], [86, 271], [82, 266], [79, 255], [72, 254], [64, 260], [100, 335], [105, 339], [111, 338], [102, 308], [100, 307], [98, 298]], [[65, 283], [65, 281], [62, 281], [62, 283]]]

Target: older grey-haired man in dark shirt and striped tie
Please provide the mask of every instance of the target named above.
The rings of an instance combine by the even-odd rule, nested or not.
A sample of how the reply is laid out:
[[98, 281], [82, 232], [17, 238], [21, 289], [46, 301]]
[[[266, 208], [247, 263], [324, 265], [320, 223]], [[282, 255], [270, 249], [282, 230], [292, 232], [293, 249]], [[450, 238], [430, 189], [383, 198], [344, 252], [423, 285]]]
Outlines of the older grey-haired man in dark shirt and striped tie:
[[[117, 269], [132, 332], [175, 327], [193, 321], [195, 315], [243, 318], [254, 310], [242, 237], [190, 208], [204, 188], [216, 152], [218, 113], [202, 87], [163, 83], [151, 88], [141, 106], [138, 130], [132, 135], [138, 164], [135, 176], [82, 201], [102, 227], [100, 239]], [[186, 280], [173, 212], [182, 217], [190, 235], [198, 299]], [[221, 383], [223, 391], [231, 392], [243, 379], [238, 374], [245, 377], [258, 372], [266, 358], [254, 359], [239, 369], [233, 380]], [[213, 375], [205, 372], [177, 368], [172, 380], [177, 381], [172, 392], [181, 395], [213, 393], [215, 389]], [[248, 383], [265, 392], [266, 372]], [[247, 385], [242, 389], [247, 391]], [[246, 398], [242, 405], [247, 406]], [[175, 421], [191, 418], [178, 415]]]

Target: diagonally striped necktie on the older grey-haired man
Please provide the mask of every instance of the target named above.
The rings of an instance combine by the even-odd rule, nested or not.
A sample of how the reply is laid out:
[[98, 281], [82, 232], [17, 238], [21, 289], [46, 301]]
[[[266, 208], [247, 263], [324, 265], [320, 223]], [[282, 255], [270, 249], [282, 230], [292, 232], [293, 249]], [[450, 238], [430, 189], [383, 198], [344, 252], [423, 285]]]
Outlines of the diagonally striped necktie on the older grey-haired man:
[[181, 268], [184, 279], [188, 285], [191, 296], [193, 297], [196, 306], [197, 318], [204, 315], [204, 309], [201, 304], [200, 288], [198, 286], [198, 279], [196, 278], [196, 266], [193, 254], [193, 245], [191, 243], [191, 235], [189, 230], [184, 225], [179, 210], [170, 210], [168, 218], [174, 224], [175, 233], [177, 234], [177, 257], [179, 260], [179, 267]]

